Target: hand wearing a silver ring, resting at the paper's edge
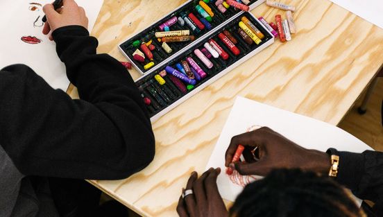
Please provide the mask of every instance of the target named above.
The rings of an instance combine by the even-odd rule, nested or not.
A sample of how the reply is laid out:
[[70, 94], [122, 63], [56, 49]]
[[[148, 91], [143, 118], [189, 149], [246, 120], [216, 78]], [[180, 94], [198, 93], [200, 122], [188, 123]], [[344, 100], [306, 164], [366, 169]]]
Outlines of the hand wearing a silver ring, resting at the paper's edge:
[[228, 211], [218, 191], [216, 178], [221, 173], [220, 168], [210, 168], [198, 178], [196, 172], [191, 173], [186, 189], [192, 189], [193, 194], [180, 197], [177, 212], [180, 217], [226, 217]]

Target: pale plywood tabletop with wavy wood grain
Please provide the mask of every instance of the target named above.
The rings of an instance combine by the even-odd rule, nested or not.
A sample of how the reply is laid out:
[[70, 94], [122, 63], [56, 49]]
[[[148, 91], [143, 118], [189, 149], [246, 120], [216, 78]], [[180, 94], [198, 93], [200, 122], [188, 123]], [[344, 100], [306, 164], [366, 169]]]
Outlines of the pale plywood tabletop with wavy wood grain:
[[[124, 60], [118, 44], [185, 1], [164, 2], [105, 0], [92, 32], [99, 53]], [[153, 123], [156, 156], [144, 171], [93, 184], [142, 216], [176, 216], [181, 188], [191, 171], [205, 170], [236, 96], [337, 125], [383, 63], [383, 30], [330, 1], [283, 2], [298, 9], [291, 42], [277, 40]], [[252, 12], [284, 15], [265, 5]]]

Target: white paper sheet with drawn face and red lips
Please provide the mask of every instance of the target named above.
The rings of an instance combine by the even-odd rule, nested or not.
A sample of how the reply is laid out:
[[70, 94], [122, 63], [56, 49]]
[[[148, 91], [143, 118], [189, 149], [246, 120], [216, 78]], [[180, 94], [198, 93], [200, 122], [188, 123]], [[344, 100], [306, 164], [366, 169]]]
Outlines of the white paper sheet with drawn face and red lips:
[[[42, 6], [52, 0], [1, 0], [1, 33], [0, 40], [0, 69], [10, 64], [22, 63], [31, 67], [38, 75], [55, 89], [67, 91], [69, 80], [66, 76], [65, 65], [56, 53], [56, 44], [42, 34], [42, 7], [30, 3], [40, 3]], [[99, 15], [103, 0], [76, 0], [82, 6], [89, 19], [89, 30], [92, 31]], [[30, 8], [30, 7], [35, 8]], [[31, 10], [35, 9], [35, 10]], [[36, 22], [37, 26], [33, 25]], [[40, 26], [40, 27], [39, 27]], [[22, 42], [23, 36], [35, 36], [42, 40], [40, 44]]]

